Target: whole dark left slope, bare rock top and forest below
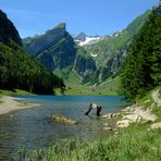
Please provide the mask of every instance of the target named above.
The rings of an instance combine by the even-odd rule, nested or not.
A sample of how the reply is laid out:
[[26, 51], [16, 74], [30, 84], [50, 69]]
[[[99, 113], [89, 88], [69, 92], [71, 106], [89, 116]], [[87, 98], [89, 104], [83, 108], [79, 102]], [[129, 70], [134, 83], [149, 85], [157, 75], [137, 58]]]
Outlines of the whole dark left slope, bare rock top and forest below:
[[0, 89], [53, 94], [53, 87], [63, 86], [62, 79], [23, 51], [18, 32], [0, 11]]

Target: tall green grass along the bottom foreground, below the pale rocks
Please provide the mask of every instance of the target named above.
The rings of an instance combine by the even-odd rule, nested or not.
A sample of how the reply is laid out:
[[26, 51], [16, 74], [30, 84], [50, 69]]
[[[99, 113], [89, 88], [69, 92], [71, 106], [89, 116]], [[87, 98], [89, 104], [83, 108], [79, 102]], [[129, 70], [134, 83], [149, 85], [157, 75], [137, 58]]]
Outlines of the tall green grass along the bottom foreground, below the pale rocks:
[[32, 152], [22, 149], [20, 160], [30, 161], [159, 161], [161, 129], [148, 131], [146, 125], [132, 125], [109, 139], [92, 143], [66, 140]]

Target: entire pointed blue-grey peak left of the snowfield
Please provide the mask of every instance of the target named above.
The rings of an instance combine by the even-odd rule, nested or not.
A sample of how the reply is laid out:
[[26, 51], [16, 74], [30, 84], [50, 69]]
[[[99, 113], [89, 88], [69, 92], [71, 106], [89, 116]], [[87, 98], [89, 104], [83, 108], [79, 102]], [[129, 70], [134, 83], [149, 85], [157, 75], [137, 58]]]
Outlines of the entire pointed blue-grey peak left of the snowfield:
[[25, 41], [24, 49], [51, 71], [72, 66], [76, 57], [75, 42], [64, 23]]

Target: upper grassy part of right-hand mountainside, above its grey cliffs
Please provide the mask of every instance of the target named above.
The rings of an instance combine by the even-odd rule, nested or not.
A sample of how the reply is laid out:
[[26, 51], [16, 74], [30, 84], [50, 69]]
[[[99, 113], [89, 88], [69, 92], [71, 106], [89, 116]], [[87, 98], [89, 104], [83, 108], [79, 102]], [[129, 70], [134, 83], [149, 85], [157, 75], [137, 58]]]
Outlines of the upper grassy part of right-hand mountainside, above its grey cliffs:
[[108, 35], [102, 40], [87, 46], [86, 50], [88, 53], [98, 55], [95, 58], [98, 67], [104, 66], [109, 60], [129, 46], [133, 37], [146, 22], [149, 13], [150, 11], [147, 11], [135, 18], [124, 30]]

